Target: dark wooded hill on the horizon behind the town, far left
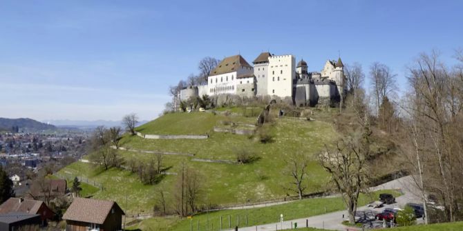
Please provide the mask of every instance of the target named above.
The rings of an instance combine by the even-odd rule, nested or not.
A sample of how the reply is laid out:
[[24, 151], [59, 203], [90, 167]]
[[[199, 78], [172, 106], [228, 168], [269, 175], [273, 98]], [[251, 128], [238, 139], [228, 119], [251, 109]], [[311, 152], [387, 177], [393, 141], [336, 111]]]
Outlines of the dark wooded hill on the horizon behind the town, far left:
[[29, 118], [7, 119], [0, 118], [0, 130], [12, 131], [12, 127], [18, 127], [24, 131], [55, 130], [56, 127], [51, 124], [41, 123]]

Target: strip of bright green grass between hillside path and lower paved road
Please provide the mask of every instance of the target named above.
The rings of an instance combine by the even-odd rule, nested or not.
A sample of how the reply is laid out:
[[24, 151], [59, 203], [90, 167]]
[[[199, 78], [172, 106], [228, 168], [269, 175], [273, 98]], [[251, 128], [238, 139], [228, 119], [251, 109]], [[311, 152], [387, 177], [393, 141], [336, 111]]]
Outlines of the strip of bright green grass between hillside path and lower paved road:
[[[396, 197], [399, 196], [399, 193], [394, 190], [381, 190], [377, 192], [372, 192], [371, 194], [365, 195], [362, 194], [359, 198], [359, 206], [366, 205], [370, 201], [377, 199], [380, 193], [392, 193]], [[301, 201], [293, 201], [290, 203], [285, 203], [282, 205], [274, 205], [264, 208], [252, 208], [245, 210], [220, 210], [216, 212], [209, 212], [198, 214], [193, 216], [191, 219], [181, 219], [177, 220], [175, 225], [170, 225], [168, 227], [161, 227], [162, 223], [168, 223], [166, 221], [160, 221], [160, 219], [147, 219], [142, 221], [140, 225], [135, 225], [131, 229], [139, 228], [144, 230], [144, 228], [149, 228], [151, 225], [158, 225], [158, 230], [176, 230], [176, 231], [188, 231], [190, 230], [190, 222], [193, 223], [193, 227], [196, 229], [198, 227], [198, 221], [200, 224], [200, 230], [205, 230], [207, 225], [207, 219], [209, 217], [209, 229], [214, 227], [215, 229], [220, 228], [220, 217], [223, 219], [223, 228], [229, 228], [229, 219], [231, 220], [231, 227], [238, 225], [238, 215], [240, 216], [239, 227], [243, 226], [254, 226], [262, 225], [266, 223], [274, 223], [279, 221], [280, 214], [283, 214], [285, 220], [299, 219], [303, 217], [312, 217], [319, 214], [324, 214], [326, 212], [334, 212], [339, 210], [344, 210], [346, 207], [343, 203], [343, 200], [340, 197], [334, 198], [316, 198], [316, 199], [304, 199]], [[247, 216], [247, 225], [246, 225], [246, 216]], [[178, 218], [176, 218], [178, 219]]]

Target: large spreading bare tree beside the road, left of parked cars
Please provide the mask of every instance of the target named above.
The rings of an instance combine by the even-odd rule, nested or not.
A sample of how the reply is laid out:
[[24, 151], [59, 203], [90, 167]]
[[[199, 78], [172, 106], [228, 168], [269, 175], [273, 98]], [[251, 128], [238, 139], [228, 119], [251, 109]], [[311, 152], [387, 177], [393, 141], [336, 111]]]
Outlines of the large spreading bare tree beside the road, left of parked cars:
[[342, 194], [349, 214], [350, 223], [355, 223], [359, 194], [366, 188], [366, 159], [370, 155], [370, 135], [368, 125], [355, 137], [337, 141], [336, 148], [325, 147], [319, 154], [320, 165], [331, 175], [332, 181]]

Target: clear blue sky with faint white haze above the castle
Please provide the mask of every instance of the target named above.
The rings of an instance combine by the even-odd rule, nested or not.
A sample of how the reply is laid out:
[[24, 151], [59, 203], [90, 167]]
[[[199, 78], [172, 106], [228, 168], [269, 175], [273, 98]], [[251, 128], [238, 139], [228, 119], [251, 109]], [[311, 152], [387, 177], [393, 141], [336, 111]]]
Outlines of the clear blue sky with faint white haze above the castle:
[[1, 1], [0, 117], [153, 119], [202, 57], [393, 69], [462, 48], [463, 1]]

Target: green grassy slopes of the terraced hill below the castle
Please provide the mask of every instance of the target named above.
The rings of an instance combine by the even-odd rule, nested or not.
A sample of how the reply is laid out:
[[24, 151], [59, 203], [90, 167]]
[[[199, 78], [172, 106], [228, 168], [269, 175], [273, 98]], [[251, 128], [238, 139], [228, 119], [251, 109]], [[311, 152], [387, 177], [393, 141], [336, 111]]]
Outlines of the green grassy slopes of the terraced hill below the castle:
[[[236, 110], [239, 112], [239, 110]], [[245, 135], [214, 132], [214, 125], [221, 121], [254, 123], [254, 117], [225, 116], [208, 112], [166, 114], [137, 128], [144, 134], [209, 134], [209, 139], [153, 140], [126, 135], [122, 147], [132, 150], [150, 150], [194, 154], [194, 157], [182, 155], [164, 155], [164, 165], [171, 167], [168, 172], [178, 172], [179, 163], [185, 161], [196, 168], [202, 179], [202, 192], [207, 190], [209, 203], [232, 205], [256, 203], [270, 199], [283, 199], [288, 192], [290, 178], [282, 174], [286, 164], [285, 157], [294, 152], [302, 152], [314, 157], [323, 149], [325, 143], [336, 139], [338, 134], [330, 123], [323, 121], [304, 121], [297, 119], [277, 119], [270, 127], [272, 143], [258, 143]], [[260, 159], [245, 165], [230, 163], [207, 163], [195, 159], [236, 161], [237, 150], [247, 150]], [[133, 151], [119, 151], [124, 159], [146, 160], [154, 154]], [[117, 201], [130, 214], [151, 212], [155, 203], [154, 190], [163, 187], [171, 192], [175, 177], [168, 175], [158, 185], [143, 185], [136, 174], [126, 170], [95, 169], [89, 163], [73, 163], [61, 170], [62, 174], [87, 177], [104, 185], [104, 191], [95, 192], [95, 198]], [[308, 171], [308, 189], [306, 193], [324, 190], [328, 181], [326, 174], [312, 159]], [[126, 195], [128, 205], [125, 206]], [[167, 194], [171, 199], [171, 193]], [[205, 203], [201, 198], [200, 203]]]

